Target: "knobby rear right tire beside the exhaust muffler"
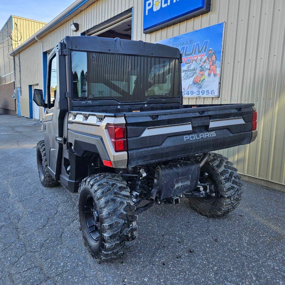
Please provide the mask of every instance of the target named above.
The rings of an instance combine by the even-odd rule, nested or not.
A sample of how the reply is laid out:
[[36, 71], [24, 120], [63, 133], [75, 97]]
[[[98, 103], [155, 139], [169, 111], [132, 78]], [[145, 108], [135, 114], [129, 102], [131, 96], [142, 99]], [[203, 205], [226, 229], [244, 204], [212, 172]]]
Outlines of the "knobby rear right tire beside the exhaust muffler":
[[243, 194], [241, 176], [228, 158], [210, 153], [207, 162], [201, 168], [201, 176], [208, 174], [213, 182], [215, 196], [208, 198], [189, 198], [189, 203], [202, 215], [219, 217], [233, 211], [241, 201]]

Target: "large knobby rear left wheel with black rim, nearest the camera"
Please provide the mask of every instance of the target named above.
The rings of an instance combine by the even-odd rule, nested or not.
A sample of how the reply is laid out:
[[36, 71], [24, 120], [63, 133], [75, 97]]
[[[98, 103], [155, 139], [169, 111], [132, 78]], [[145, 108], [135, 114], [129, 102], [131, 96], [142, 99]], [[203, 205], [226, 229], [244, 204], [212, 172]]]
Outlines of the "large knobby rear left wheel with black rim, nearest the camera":
[[130, 189], [119, 175], [102, 173], [82, 180], [78, 209], [82, 237], [96, 260], [120, 257], [134, 245], [135, 206]]

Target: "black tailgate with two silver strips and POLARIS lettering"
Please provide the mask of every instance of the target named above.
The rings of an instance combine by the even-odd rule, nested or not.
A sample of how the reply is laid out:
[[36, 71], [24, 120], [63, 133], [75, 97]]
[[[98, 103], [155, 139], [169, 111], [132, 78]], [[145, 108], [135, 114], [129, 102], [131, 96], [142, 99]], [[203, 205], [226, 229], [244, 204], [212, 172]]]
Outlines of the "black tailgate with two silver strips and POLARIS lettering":
[[251, 142], [254, 104], [125, 113], [128, 167]]

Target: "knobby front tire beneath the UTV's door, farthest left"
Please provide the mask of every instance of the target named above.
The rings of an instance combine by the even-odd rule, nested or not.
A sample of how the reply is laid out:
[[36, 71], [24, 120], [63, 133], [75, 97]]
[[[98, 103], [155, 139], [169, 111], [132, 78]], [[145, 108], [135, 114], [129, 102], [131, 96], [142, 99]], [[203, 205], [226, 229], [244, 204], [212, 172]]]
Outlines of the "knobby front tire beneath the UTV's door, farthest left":
[[38, 176], [40, 178], [40, 183], [42, 183], [44, 187], [57, 186], [59, 182], [54, 180], [48, 171], [48, 162], [46, 158], [44, 140], [39, 141], [36, 146], [36, 162], [38, 166]]

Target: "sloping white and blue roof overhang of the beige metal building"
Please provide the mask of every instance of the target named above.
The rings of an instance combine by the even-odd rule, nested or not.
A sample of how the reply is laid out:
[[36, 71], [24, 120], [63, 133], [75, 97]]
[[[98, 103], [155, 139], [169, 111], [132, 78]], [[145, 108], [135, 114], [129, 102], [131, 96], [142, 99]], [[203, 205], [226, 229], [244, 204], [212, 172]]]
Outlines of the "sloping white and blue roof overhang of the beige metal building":
[[52, 21], [47, 23], [44, 27], [42, 27], [40, 30], [38, 30], [35, 34], [33, 34], [30, 38], [28, 38], [25, 42], [20, 44], [17, 48], [13, 50], [13, 52], [10, 53], [10, 56], [14, 56], [36, 42], [35, 36], [38, 39], [41, 39], [51, 31], [55, 30], [62, 24], [66, 23], [68, 20], [70, 20], [72, 17], [76, 16], [78, 13], [86, 9], [88, 6], [90, 6], [92, 3], [94, 3], [97, 0], [76, 0], [74, 3], [72, 3], [68, 8], [66, 8], [62, 13], [60, 13], [58, 16], [56, 16]]

